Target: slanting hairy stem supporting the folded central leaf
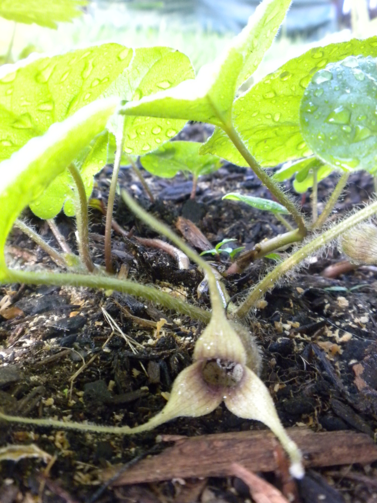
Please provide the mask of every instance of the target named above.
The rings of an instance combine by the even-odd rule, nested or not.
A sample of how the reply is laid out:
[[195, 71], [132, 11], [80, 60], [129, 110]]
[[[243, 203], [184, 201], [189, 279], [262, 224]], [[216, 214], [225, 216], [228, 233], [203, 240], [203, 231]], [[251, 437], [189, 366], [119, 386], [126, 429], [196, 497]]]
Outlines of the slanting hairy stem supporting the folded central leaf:
[[255, 175], [259, 178], [262, 184], [267, 187], [270, 193], [277, 199], [277, 201], [285, 206], [287, 210], [291, 213], [294, 218], [297, 226], [299, 227], [303, 237], [307, 234], [307, 227], [305, 225], [305, 221], [303, 216], [300, 214], [293, 201], [291, 201], [282, 190], [279, 189], [278, 185], [272, 180], [270, 176], [263, 170], [263, 168], [258, 164], [255, 158], [251, 155], [251, 153], [246, 148], [246, 145], [242, 141], [241, 137], [234, 129], [233, 126], [223, 126], [224, 131], [229, 136], [230, 140], [237, 148], [242, 157], [249, 164]]

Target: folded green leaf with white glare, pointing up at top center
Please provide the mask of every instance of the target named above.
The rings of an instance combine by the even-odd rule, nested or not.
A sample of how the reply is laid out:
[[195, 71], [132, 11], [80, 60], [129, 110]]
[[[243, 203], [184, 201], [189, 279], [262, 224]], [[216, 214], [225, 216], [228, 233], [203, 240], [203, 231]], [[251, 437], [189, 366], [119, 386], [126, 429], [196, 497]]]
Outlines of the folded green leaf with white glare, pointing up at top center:
[[202, 66], [194, 80], [186, 80], [137, 103], [127, 103], [123, 113], [230, 127], [236, 91], [259, 65], [290, 3], [290, 0], [263, 0], [228, 50], [213, 63]]

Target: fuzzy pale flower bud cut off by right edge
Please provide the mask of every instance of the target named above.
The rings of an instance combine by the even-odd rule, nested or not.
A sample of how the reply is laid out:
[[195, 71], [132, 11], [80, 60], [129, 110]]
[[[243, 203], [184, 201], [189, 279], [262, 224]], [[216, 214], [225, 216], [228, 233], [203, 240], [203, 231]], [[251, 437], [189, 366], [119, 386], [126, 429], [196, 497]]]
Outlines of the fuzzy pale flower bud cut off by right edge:
[[355, 264], [377, 264], [377, 227], [364, 223], [354, 227], [339, 238], [339, 247]]

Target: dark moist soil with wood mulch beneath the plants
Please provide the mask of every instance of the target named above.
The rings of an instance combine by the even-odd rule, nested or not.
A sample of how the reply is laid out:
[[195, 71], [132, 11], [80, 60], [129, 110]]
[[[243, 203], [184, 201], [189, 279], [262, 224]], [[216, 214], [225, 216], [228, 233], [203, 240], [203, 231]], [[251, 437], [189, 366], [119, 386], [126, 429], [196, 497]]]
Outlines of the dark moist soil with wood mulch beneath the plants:
[[[189, 124], [179, 139], [203, 141], [208, 135], [206, 127]], [[111, 173], [111, 166], [103, 170], [92, 195], [105, 204]], [[172, 227], [178, 217], [191, 220], [212, 245], [233, 238], [235, 241], [228, 245], [252, 249], [263, 239], [285, 232], [268, 212], [222, 201], [228, 192], [270, 198], [250, 169], [224, 163], [216, 173], [199, 180], [195, 200], [189, 199], [190, 175], [167, 180], [143, 170], [142, 174], [154, 202], [129, 167], [121, 170], [119, 185]], [[334, 175], [319, 184], [319, 211], [336, 181]], [[290, 181], [286, 189], [310, 218], [310, 192], [296, 194]], [[372, 193], [370, 176], [352, 175], [330, 221], [362, 205]], [[30, 212], [25, 216], [58, 248], [46, 222]], [[138, 242], [136, 236], [161, 236], [135, 219], [120, 198], [114, 218], [130, 232], [125, 238], [114, 231], [113, 266], [117, 272], [143, 284], [154, 284], [187, 302], [210, 307], [206, 285], [202, 284], [204, 277], [196, 265], [178, 269], [173, 256]], [[76, 250], [74, 219], [59, 214], [55, 222]], [[105, 226], [98, 209], [90, 211], [89, 230], [93, 260], [103, 266]], [[57, 270], [18, 229], [9, 239], [8, 256], [12, 267]], [[207, 259], [213, 260], [220, 272], [231, 264], [226, 253], [208, 255]], [[377, 269], [360, 267], [336, 278], [323, 276], [328, 266], [342, 260], [345, 258], [336, 246], [321, 251], [268, 293], [245, 323], [261, 348], [261, 379], [285, 427], [307, 428], [315, 433], [353, 430], [373, 437], [377, 428]], [[244, 272], [224, 278], [233, 302], [244, 299], [273, 264], [273, 260], [261, 259]], [[118, 292], [12, 284], [2, 287], [0, 293], [3, 304], [9, 301], [4, 316], [0, 316], [0, 406], [13, 415], [108, 426], [143, 424], [165, 405], [175, 377], [191, 364], [195, 341], [204, 328], [187, 316]], [[84, 363], [86, 367], [77, 373]], [[265, 427], [233, 415], [224, 404], [208, 415], [178, 418], [131, 436], [2, 423], [0, 446], [19, 446], [21, 459], [1, 462], [0, 501], [250, 501], [249, 490], [239, 478], [200, 474], [190, 480], [178, 477], [104, 488], [97, 493], [102, 487], [101, 473], [110, 465], [163, 451], [169, 443], [156, 443], [157, 436], [194, 437], [249, 430]], [[43, 459], [24, 457], [22, 447], [29, 444], [56, 456], [46, 460], [50, 460], [47, 471]], [[329, 460], [328, 467], [308, 471], [305, 483], [298, 485], [296, 501], [376, 500], [376, 463], [331, 465]], [[278, 474], [261, 476], [281, 489]]]

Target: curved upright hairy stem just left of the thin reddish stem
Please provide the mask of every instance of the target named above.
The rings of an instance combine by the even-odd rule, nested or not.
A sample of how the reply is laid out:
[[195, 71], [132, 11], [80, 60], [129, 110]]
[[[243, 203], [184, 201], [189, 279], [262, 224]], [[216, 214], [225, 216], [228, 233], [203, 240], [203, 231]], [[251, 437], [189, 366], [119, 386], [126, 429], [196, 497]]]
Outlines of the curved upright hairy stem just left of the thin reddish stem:
[[78, 232], [78, 251], [82, 262], [85, 264], [86, 269], [89, 273], [95, 270], [95, 266], [90, 257], [89, 249], [89, 218], [87, 211], [87, 200], [85, 187], [82, 182], [81, 175], [77, 167], [73, 164], [69, 164], [68, 171], [73, 178], [74, 187], [74, 199], [75, 199], [75, 210], [76, 210], [76, 224]]

